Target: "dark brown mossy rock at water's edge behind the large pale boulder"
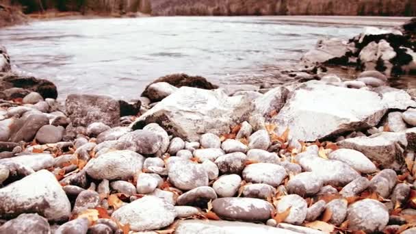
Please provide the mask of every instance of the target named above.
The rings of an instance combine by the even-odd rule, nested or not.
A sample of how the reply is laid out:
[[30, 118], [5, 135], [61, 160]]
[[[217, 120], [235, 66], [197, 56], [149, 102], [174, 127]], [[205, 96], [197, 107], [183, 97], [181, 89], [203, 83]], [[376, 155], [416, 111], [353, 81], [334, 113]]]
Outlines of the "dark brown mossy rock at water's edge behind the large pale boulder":
[[[183, 86], [187, 87], [193, 87], [193, 88], [202, 88], [204, 90], [214, 90], [218, 88], [218, 86], [213, 85], [211, 82], [207, 81], [204, 77], [192, 77], [186, 74], [172, 74], [172, 75], [166, 75], [164, 77], [159, 77], [152, 83], [149, 83], [148, 86], [151, 86], [153, 83], [158, 82], [166, 82], [170, 83], [172, 86], [175, 86], [177, 88], [181, 88]], [[147, 88], [142, 92], [142, 96], [148, 96]]]

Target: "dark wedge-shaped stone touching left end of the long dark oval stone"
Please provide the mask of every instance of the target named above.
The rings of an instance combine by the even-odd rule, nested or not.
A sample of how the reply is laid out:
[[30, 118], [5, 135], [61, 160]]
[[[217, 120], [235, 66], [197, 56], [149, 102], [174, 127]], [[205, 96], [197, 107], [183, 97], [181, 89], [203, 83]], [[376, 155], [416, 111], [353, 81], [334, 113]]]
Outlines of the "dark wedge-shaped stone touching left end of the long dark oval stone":
[[198, 206], [200, 204], [206, 204], [209, 200], [214, 200], [217, 198], [216, 192], [212, 187], [201, 186], [196, 187], [193, 190], [185, 192], [178, 197], [178, 205], [191, 205]]

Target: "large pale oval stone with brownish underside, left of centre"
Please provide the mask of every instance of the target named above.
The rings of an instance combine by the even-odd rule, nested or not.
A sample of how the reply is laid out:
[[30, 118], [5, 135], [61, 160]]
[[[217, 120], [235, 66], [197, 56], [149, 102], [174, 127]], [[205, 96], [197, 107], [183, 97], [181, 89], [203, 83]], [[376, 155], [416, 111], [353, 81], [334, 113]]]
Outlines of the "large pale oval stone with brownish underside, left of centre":
[[143, 162], [133, 151], [112, 151], [88, 161], [84, 170], [93, 179], [128, 179], [142, 170]]

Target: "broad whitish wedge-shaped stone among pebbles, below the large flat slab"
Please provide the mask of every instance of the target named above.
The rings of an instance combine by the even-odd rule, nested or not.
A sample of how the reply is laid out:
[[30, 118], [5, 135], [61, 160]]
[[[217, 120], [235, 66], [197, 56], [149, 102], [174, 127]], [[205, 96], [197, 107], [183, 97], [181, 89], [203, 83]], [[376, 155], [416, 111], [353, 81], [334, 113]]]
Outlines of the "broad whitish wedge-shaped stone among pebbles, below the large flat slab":
[[303, 170], [317, 174], [324, 185], [343, 186], [360, 177], [359, 172], [356, 172], [342, 161], [309, 155], [298, 155], [296, 161], [302, 166]]

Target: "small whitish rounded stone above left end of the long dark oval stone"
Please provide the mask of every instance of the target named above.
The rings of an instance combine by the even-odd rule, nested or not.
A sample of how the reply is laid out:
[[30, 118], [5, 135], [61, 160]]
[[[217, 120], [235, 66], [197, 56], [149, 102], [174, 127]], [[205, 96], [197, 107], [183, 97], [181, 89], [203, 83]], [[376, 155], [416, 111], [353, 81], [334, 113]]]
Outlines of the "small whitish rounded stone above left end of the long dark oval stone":
[[241, 177], [238, 174], [227, 174], [216, 180], [212, 187], [213, 190], [222, 198], [233, 197], [242, 183]]

